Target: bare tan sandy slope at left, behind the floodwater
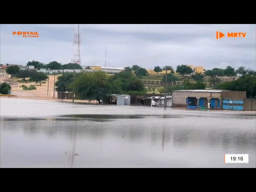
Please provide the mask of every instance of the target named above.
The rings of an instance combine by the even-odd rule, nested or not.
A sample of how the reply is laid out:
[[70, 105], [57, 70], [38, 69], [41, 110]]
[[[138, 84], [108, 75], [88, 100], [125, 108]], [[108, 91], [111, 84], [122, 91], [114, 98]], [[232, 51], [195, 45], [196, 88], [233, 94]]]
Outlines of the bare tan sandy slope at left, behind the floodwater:
[[[49, 87], [48, 81], [46, 83], [41, 84], [41, 86], [36, 86], [35, 82], [32, 83], [20, 83], [17, 78], [10, 78], [10, 75], [4, 76], [5, 74], [0, 74], [0, 82], [7, 82], [12, 87], [11, 94], [16, 95], [12, 98], [19, 98], [19, 99], [35, 99], [35, 100], [54, 100], [54, 101], [62, 101], [62, 99], [58, 99], [58, 93], [55, 91], [54, 93], [54, 75], [49, 75]], [[55, 76], [55, 82], [57, 81], [57, 77]], [[36, 86], [36, 90], [23, 90], [21, 85], [34, 85]], [[48, 93], [48, 95], [47, 95]], [[54, 95], [54, 98], [53, 98]], [[63, 102], [72, 102], [72, 99], [63, 99]], [[74, 102], [86, 102], [86, 103], [96, 103], [96, 100], [88, 101], [88, 100], [74, 100]]]

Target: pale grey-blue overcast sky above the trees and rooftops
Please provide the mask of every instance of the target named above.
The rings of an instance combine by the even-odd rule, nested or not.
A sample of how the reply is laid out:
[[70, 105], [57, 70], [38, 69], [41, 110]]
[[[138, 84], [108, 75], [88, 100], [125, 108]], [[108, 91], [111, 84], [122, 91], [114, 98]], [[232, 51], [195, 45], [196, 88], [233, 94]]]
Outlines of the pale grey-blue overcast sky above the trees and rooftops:
[[[76, 24], [1, 24], [0, 63], [22, 64], [36, 60], [71, 62]], [[255, 70], [255, 24], [81, 24], [83, 66], [146, 69], [154, 66], [195, 65], [206, 70], [245, 66]], [[245, 38], [216, 39], [216, 31], [246, 32]], [[22, 38], [12, 32], [37, 31], [39, 38]]]

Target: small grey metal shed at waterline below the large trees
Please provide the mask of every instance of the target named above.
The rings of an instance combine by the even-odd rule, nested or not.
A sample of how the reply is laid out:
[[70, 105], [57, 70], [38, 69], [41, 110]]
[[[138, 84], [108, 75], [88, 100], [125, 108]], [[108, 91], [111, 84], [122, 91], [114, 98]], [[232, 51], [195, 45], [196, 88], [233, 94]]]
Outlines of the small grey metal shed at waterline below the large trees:
[[113, 105], [130, 105], [130, 95], [122, 94], [108, 94], [103, 97], [103, 104], [113, 104]]

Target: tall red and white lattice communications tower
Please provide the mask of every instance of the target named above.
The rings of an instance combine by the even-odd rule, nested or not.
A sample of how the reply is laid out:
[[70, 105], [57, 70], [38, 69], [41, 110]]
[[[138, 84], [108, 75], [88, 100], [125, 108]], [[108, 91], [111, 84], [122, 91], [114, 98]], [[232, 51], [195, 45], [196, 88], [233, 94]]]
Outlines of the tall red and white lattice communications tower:
[[72, 58], [71, 63], [77, 63], [81, 65], [81, 56], [80, 56], [81, 33], [80, 33], [79, 24], [75, 30], [73, 46], [74, 46], [74, 58]]

